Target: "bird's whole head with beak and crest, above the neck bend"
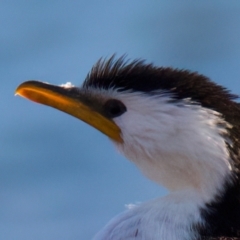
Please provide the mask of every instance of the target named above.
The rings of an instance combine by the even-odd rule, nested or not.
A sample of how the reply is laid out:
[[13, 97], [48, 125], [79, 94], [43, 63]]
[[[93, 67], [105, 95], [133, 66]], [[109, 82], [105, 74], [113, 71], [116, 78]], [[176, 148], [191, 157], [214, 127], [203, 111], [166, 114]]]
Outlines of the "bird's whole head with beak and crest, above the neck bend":
[[203, 75], [113, 56], [81, 87], [27, 81], [16, 94], [95, 127], [170, 191], [194, 189], [208, 201], [238, 171], [239, 106]]

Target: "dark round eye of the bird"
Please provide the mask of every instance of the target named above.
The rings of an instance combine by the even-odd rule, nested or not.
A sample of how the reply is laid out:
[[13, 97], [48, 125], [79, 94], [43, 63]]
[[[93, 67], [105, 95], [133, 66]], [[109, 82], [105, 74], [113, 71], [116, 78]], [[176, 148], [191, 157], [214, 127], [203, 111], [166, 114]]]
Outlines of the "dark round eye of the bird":
[[104, 110], [108, 117], [114, 118], [125, 113], [127, 111], [127, 108], [121, 101], [116, 99], [109, 99], [104, 104]]

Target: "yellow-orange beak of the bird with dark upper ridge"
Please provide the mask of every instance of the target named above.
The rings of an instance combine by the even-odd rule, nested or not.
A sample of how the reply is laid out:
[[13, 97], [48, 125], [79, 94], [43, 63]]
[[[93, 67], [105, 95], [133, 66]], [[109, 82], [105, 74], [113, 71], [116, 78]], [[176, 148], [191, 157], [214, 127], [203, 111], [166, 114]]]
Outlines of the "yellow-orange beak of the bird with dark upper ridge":
[[86, 101], [82, 101], [73, 88], [54, 86], [38, 81], [27, 81], [18, 86], [16, 95], [66, 112], [95, 127], [112, 140], [123, 142], [120, 128]]

